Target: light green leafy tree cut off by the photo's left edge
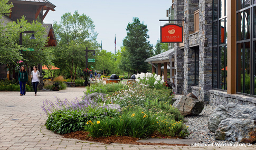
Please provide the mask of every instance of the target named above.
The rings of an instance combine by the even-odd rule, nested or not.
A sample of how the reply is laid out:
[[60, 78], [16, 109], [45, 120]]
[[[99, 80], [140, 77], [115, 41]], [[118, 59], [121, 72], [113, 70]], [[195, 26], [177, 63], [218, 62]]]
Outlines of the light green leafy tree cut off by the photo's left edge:
[[[8, 0], [0, 1], [0, 19], [4, 14], [10, 14], [13, 4], [7, 4]], [[13, 64], [17, 60], [21, 60], [22, 56], [19, 53], [19, 45], [12, 38], [13, 29], [9, 26], [4, 26], [4, 21], [0, 21], [0, 64]], [[3, 55], [2, 55], [3, 54]]]

